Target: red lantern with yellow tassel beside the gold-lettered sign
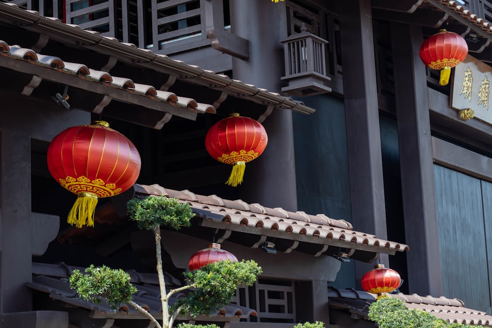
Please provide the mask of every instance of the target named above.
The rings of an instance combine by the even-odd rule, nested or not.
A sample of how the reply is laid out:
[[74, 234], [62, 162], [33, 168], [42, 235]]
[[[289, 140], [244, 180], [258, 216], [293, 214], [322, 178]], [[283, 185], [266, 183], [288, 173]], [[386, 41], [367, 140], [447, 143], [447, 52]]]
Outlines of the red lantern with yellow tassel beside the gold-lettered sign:
[[466, 58], [468, 45], [460, 34], [440, 30], [422, 43], [419, 54], [424, 64], [441, 70], [439, 85], [445, 86], [449, 82], [451, 68]]

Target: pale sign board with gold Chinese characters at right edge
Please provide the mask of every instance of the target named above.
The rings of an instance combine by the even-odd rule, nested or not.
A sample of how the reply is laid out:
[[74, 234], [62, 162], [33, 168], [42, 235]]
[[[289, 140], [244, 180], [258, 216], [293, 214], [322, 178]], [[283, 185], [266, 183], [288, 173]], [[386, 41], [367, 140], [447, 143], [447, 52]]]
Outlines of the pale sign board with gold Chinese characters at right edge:
[[492, 104], [489, 102], [492, 67], [468, 55], [454, 70], [450, 107], [471, 109], [475, 118], [492, 125]]

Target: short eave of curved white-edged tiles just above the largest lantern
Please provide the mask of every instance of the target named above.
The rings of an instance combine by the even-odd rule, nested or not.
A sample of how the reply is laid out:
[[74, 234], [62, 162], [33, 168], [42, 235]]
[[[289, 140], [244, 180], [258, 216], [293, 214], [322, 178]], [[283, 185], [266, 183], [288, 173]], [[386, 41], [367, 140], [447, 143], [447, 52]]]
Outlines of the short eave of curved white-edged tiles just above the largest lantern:
[[[32, 49], [8, 45], [2, 40], [0, 40], [0, 66], [31, 73], [51, 82], [63, 81], [68, 86], [87, 88], [98, 94], [178, 116], [187, 116], [182, 113], [183, 109], [196, 113], [215, 113], [212, 105], [198, 103], [194, 99], [180, 97], [172, 92], [157, 90], [150, 85], [136, 84], [124, 77], [111, 76], [108, 72], [93, 70], [84, 64], [37, 54]], [[46, 69], [40, 70], [40, 66]], [[31, 95], [32, 91], [39, 86], [40, 80], [35, 81], [24, 88], [22, 91], [24, 95]], [[144, 102], [141, 98], [145, 98]], [[109, 101], [105, 101], [99, 104], [93, 112], [100, 113], [108, 103]], [[135, 112], [135, 115], [137, 114], [139, 112]], [[163, 118], [156, 122], [156, 128], [162, 127], [166, 119], [170, 119], [165, 114], [162, 115]]]

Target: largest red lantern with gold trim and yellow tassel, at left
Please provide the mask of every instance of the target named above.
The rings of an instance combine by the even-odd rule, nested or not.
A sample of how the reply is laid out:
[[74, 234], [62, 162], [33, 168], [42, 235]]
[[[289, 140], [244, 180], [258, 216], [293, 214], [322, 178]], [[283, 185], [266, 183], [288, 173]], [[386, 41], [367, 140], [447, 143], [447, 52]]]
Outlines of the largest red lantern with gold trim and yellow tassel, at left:
[[140, 173], [140, 155], [123, 134], [105, 121], [69, 127], [48, 147], [48, 169], [64, 188], [78, 195], [68, 223], [94, 225], [97, 199], [129, 189]]

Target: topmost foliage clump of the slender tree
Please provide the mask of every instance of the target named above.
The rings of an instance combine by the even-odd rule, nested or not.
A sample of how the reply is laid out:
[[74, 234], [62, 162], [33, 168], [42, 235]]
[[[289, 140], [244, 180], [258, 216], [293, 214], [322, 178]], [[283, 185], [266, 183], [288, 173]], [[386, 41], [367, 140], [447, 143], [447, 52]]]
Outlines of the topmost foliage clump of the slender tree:
[[189, 227], [189, 220], [193, 217], [189, 204], [164, 196], [133, 198], [128, 201], [126, 208], [130, 219], [136, 221], [138, 228], [143, 230], [154, 230], [160, 225], [178, 230]]

